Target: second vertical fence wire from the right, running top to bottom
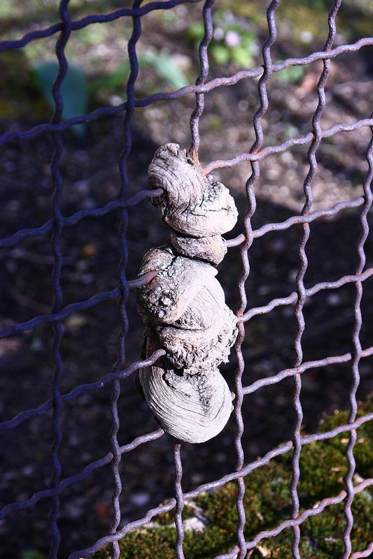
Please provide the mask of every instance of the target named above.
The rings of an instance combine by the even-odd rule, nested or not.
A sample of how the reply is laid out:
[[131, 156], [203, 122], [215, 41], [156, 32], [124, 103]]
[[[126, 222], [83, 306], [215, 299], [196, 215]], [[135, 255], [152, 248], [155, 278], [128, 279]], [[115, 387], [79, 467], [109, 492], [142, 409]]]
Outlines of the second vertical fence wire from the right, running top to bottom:
[[[328, 51], [332, 48], [332, 44], [335, 40], [335, 17], [337, 16], [337, 12], [339, 10], [339, 6], [341, 5], [342, 0], [335, 0], [332, 4], [332, 8], [330, 9], [330, 13], [328, 16], [328, 27], [329, 27], [329, 34], [327, 41], [325, 43], [324, 50]], [[321, 73], [321, 77], [318, 80], [317, 85], [317, 93], [318, 93], [318, 106], [316, 107], [316, 111], [314, 112], [314, 117], [312, 119], [312, 128], [314, 131], [314, 139], [311, 142], [308, 152], [308, 159], [309, 159], [309, 171], [307, 176], [304, 180], [303, 190], [304, 195], [306, 197], [306, 201], [304, 203], [302, 209], [302, 215], [308, 215], [314, 199], [314, 195], [312, 192], [312, 182], [314, 177], [317, 173], [317, 159], [316, 159], [316, 151], [318, 146], [321, 144], [321, 140], [323, 138], [323, 131], [321, 129], [321, 116], [323, 115], [323, 110], [325, 108], [325, 83], [328, 80], [328, 75], [330, 72], [330, 59], [323, 60], [323, 72]], [[307, 273], [308, 268], [308, 260], [306, 254], [306, 245], [307, 241], [309, 240], [310, 235], [310, 226], [309, 223], [303, 224], [303, 231], [302, 231], [302, 238], [300, 240], [300, 245], [298, 248], [298, 254], [300, 258], [300, 268], [297, 273], [296, 278], [296, 286], [297, 286], [297, 303], [295, 305], [295, 316], [297, 319], [297, 333], [295, 335], [295, 367], [299, 367], [302, 364], [303, 360], [303, 349], [302, 349], [302, 336], [304, 333], [305, 328], [305, 321], [304, 321], [304, 314], [303, 314], [303, 307], [306, 300], [306, 291], [304, 288], [304, 276]], [[293, 451], [293, 460], [292, 460], [292, 467], [293, 467], [293, 474], [290, 482], [290, 493], [293, 503], [292, 515], [293, 518], [297, 518], [299, 511], [300, 511], [300, 499], [297, 491], [298, 481], [300, 479], [300, 452], [302, 449], [301, 439], [300, 439], [300, 429], [302, 426], [303, 421], [303, 410], [302, 410], [302, 402], [300, 400], [300, 393], [302, 391], [302, 379], [299, 373], [294, 377], [294, 393], [293, 393], [293, 402], [295, 407], [295, 414], [296, 414], [296, 421], [295, 421], [295, 429], [294, 429], [294, 436], [293, 436], [293, 444], [294, 444], [294, 451]], [[295, 525], [293, 527], [293, 543], [292, 543], [292, 551], [293, 557], [295, 559], [300, 559], [300, 526]]]

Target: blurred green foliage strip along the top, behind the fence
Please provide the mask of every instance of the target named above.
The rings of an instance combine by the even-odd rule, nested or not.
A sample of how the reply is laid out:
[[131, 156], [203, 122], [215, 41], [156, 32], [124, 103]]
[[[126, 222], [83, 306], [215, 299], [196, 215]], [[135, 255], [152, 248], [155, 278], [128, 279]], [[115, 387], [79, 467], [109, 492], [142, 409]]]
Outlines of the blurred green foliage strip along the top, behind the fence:
[[[87, 15], [87, 6], [89, 13], [106, 13], [130, 6], [130, 3], [75, 0], [69, 6], [71, 18], [76, 20]], [[282, 50], [291, 43], [292, 55], [301, 56], [313, 50], [315, 43], [316, 48], [322, 48], [321, 37], [327, 32], [329, 6], [328, 0], [281, 3], [277, 13]], [[204, 34], [202, 18], [196, 17], [196, 12], [200, 10], [202, 3], [193, 6], [193, 10], [181, 5], [173, 10], [153, 11], [143, 18], [143, 34], [137, 48], [139, 66], [143, 70], [136, 83], [138, 96], [146, 96], [159, 89], [178, 89], [195, 81], [199, 68], [197, 48]], [[369, 34], [369, 16], [372, 13], [372, 0], [345, 1], [339, 13], [339, 43]], [[29, 0], [27, 3], [3, 0], [0, 17], [3, 40], [11, 40], [20, 38], [30, 29], [48, 27], [59, 20], [59, 13], [57, 3], [52, 0]], [[74, 66], [71, 66], [62, 87], [65, 118], [85, 115], [102, 103], [114, 105], [124, 101], [124, 85], [129, 75], [126, 57], [130, 32], [125, 20], [122, 18], [110, 25], [90, 25], [71, 34], [66, 56], [73, 58]], [[167, 34], [167, 42], [162, 40], [164, 34]], [[235, 0], [218, 2], [214, 10], [213, 39], [209, 46], [211, 74], [232, 73], [258, 66], [260, 45], [265, 34], [267, 22], [259, 0], [250, 3]], [[57, 34], [33, 41], [22, 51], [2, 55], [0, 109], [3, 112], [15, 118], [31, 110], [36, 119], [50, 112], [50, 85], [57, 73], [54, 59], [56, 38]], [[286, 54], [276, 52], [279, 58]], [[278, 73], [275, 79], [296, 84], [305, 72], [304, 67], [290, 67]], [[9, 96], [9, 92], [12, 95]], [[15, 92], [22, 95], [22, 103], [15, 103]], [[5, 101], [6, 97], [8, 101]], [[74, 127], [74, 130], [83, 132], [81, 126]]]

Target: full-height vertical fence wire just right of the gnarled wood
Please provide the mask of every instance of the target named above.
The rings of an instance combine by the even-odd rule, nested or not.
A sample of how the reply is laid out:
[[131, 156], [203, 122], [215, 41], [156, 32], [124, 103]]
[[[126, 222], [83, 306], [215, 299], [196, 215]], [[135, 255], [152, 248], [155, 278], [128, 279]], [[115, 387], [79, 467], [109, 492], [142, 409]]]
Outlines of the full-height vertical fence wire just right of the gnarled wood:
[[[276, 41], [277, 30], [276, 30], [276, 19], [275, 11], [277, 6], [279, 6], [280, 0], [272, 0], [267, 9], [267, 24], [269, 29], [269, 36], [267, 41], [265, 41], [262, 49], [263, 57], [263, 67], [264, 71], [262, 77], [259, 80], [258, 92], [260, 96], [260, 108], [254, 115], [254, 130], [255, 130], [255, 142], [251, 146], [251, 153], [260, 151], [263, 145], [263, 129], [262, 129], [262, 117], [265, 115], [268, 109], [268, 96], [267, 96], [267, 81], [272, 74], [272, 57], [271, 57], [271, 47]], [[251, 218], [254, 215], [256, 209], [255, 201], [255, 191], [254, 184], [258, 180], [260, 175], [260, 164], [259, 161], [251, 162], [251, 175], [246, 182], [246, 196], [248, 198], [248, 210], [244, 217], [244, 243], [241, 245], [241, 275], [239, 277], [238, 287], [239, 287], [239, 297], [240, 305], [237, 310], [237, 317], [241, 317], [247, 306], [247, 296], [246, 296], [246, 281], [250, 274], [250, 262], [248, 259], [248, 250], [253, 243], [253, 228], [251, 226]], [[234, 415], [237, 423], [236, 436], [234, 438], [234, 447], [237, 454], [236, 470], [241, 470], [244, 465], [244, 449], [241, 443], [241, 437], [244, 434], [244, 419], [242, 417], [241, 407], [244, 400], [243, 386], [242, 386], [242, 375], [244, 374], [244, 356], [242, 354], [241, 345], [245, 338], [245, 326], [244, 322], [238, 323], [238, 336], [237, 341], [234, 344], [234, 351], [237, 359], [237, 372], [235, 375], [235, 394], [236, 398], [234, 400]], [[239, 515], [239, 521], [237, 524], [237, 540], [239, 544], [239, 559], [244, 559], [246, 557], [246, 542], [244, 536], [244, 528], [246, 523], [246, 514], [244, 509], [244, 495], [245, 495], [245, 482], [243, 477], [239, 477], [237, 480], [237, 512]]]

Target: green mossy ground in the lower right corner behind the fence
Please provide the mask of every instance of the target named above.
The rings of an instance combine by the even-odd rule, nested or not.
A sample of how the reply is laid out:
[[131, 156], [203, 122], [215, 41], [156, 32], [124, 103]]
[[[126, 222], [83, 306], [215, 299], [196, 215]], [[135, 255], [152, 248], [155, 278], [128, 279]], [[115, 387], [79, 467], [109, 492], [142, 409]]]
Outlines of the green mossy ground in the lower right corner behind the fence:
[[[373, 398], [359, 408], [359, 415], [372, 409]], [[321, 423], [321, 431], [331, 430], [346, 423], [345, 412], [335, 412]], [[347, 470], [345, 457], [348, 433], [323, 442], [308, 444], [302, 449], [300, 458], [301, 478], [298, 486], [301, 510], [313, 507], [325, 497], [337, 495], [343, 487]], [[356, 478], [372, 476], [373, 426], [365, 423], [358, 429], [358, 440], [354, 451]], [[265, 467], [254, 470], [245, 479], [246, 511], [245, 537], [251, 539], [256, 533], [274, 528], [289, 518], [291, 500], [291, 452], [272, 460]], [[234, 482], [213, 493], [204, 493], [188, 507], [184, 518], [197, 516], [204, 519], [203, 531], [185, 532], [184, 551], [188, 559], [210, 559], [218, 553], [229, 551], [235, 543], [237, 511], [235, 509], [237, 486]], [[353, 549], [365, 549], [372, 533], [372, 492], [362, 491], [353, 501], [354, 527]], [[121, 559], [174, 559], [175, 529], [171, 525], [172, 514], [167, 513], [153, 519], [151, 528], [130, 532], [120, 542]], [[343, 504], [327, 507], [316, 516], [302, 523], [300, 550], [303, 559], [334, 559], [343, 551], [342, 534], [345, 519]], [[283, 530], [277, 537], [263, 539], [251, 558], [269, 557], [291, 559], [293, 531]], [[110, 546], [92, 556], [92, 559], [111, 557]]]

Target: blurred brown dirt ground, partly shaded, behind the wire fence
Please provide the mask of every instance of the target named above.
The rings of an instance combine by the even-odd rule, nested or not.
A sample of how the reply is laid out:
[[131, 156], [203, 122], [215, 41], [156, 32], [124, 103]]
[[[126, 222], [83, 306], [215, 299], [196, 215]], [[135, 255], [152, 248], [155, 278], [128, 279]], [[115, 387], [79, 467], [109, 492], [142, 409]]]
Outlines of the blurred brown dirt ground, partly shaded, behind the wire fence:
[[[259, 33], [262, 38], [262, 31]], [[156, 43], [156, 40], [154, 40]], [[174, 45], [169, 38], [169, 45]], [[170, 48], [171, 48], [170, 46]], [[308, 45], [308, 50], [314, 47]], [[189, 49], [189, 50], [188, 50]], [[194, 51], [185, 47], [185, 56]], [[286, 41], [279, 57], [295, 52]], [[372, 54], [372, 50], [369, 51]], [[186, 54], [185, 54], [186, 53]], [[259, 55], [258, 55], [259, 56]], [[316, 108], [315, 86], [322, 64], [311, 64], [297, 82], [269, 83], [269, 111], [263, 120], [265, 145], [281, 143], [289, 137], [302, 136], [310, 130]], [[223, 68], [213, 64], [214, 77]], [[225, 68], [227, 73], [227, 68]], [[372, 108], [372, 67], [368, 49], [342, 55], [332, 62], [327, 88], [327, 110], [323, 128], [336, 123], [351, 123], [370, 116]], [[206, 96], [201, 119], [200, 159], [207, 164], [214, 159], [228, 159], [248, 151], [253, 143], [253, 115], [258, 108], [257, 80], [244, 80], [234, 87], [216, 89]], [[97, 102], [97, 100], [95, 101]], [[133, 121], [133, 145], [128, 160], [129, 187], [133, 196], [148, 187], [146, 170], [158, 145], [167, 142], [190, 143], [189, 118], [194, 108], [192, 96], [172, 102], [160, 101], [136, 110]], [[41, 103], [42, 104], [42, 103]], [[46, 110], [40, 109], [41, 112]], [[5, 114], [5, 113], [4, 113]], [[1, 118], [1, 133], [28, 129], [37, 124], [38, 112], [22, 110], [17, 118]], [[318, 150], [318, 174], [313, 183], [314, 208], [330, 208], [339, 201], [361, 196], [367, 172], [365, 151], [370, 130], [340, 133], [325, 140]], [[97, 120], [87, 125], [83, 136], [64, 133], [61, 162], [64, 177], [62, 212], [71, 215], [82, 208], [98, 208], [117, 196], [118, 156], [122, 148], [122, 115]], [[28, 142], [13, 142], [0, 152], [1, 205], [0, 233], [8, 236], [19, 228], [39, 226], [50, 218], [52, 180], [49, 161], [52, 154], [50, 135]], [[304, 203], [302, 184], [308, 170], [307, 146], [295, 147], [283, 154], [269, 156], [260, 164], [260, 179], [255, 184], [258, 208], [253, 227], [279, 222], [299, 213]], [[250, 174], [249, 164], [213, 173], [230, 187], [239, 208], [239, 223], [232, 234], [242, 231], [247, 208], [244, 186]], [[372, 224], [372, 216], [370, 216]], [[118, 216], [110, 213], [99, 219], [85, 219], [65, 228], [62, 235], [64, 266], [62, 286], [64, 305], [85, 300], [118, 284]], [[295, 289], [299, 266], [297, 245], [301, 226], [268, 233], [255, 240], [250, 249], [251, 274], [247, 282], [248, 305], [265, 305]], [[359, 209], [340, 212], [333, 219], [311, 224], [307, 244], [309, 268], [305, 282], [311, 286], [333, 281], [354, 273], [358, 263], [356, 242], [360, 234]], [[142, 256], [150, 247], [167, 240], [169, 231], [149, 201], [129, 210], [127, 242], [129, 259], [127, 277], [134, 279]], [[373, 262], [372, 235], [366, 242], [367, 267]], [[50, 238], [42, 236], [23, 240], [17, 247], [1, 253], [2, 327], [27, 321], [50, 312], [52, 290], [50, 275], [53, 259]], [[225, 289], [227, 303], [238, 304], [237, 278], [240, 261], [237, 248], [229, 250], [218, 266], [219, 281]], [[353, 347], [353, 297], [355, 288], [346, 285], [336, 291], [323, 291], [307, 300], [304, 308], [306, 330], [303, 336], [304, 361], [343, 354]], [[128, 300], [129, 332], [126, 364], [139, 359], [143, 326], [136, 311], [134, 293]], [[364, 283], [363, 347], [372, 345], [372, 281]], [[110, 372], [117, 357], [118, 310], [115, 302], [101, 303], [84, 312], [71, 314], [64, 321], [62, 358], [62, 393], [78, 384], [93, 382]], [[244, 385], [291, 367], [295, 359], [293, 307], [279, 307], [269, 314], [254, 317], [246, 326], [243, 344], [246, 370]], [[35, 407], [50, 397], [53, 365], [50, 358], [52, 327], [40, 326], [22, 335], [0, 342], [0, 377], [2, 421], [22, 409]], [[372, 358], [361, 362], [358, 398], [373, 389]], [[234, 384], [234, 357], [222, 369], [227, 382]], [[351, 383], [351, 365], [332, 365], [309, 370], [302, 376], [304, 428], [316, 428], [323, 414], [346, 409]], [[122, 382], [119, 400], [120, 444], [148, 433], [157, 425], [148, 407], [136, 392], [134, 379]], [[111, 387], [81, 395], [64, 406], [64, 438], [60, 451], [62, 477], [80, 472], [92, 460], [104, 456], [110, 448], [109, 408]], [[291, 436], [295, 413], [292, 405], [293, 381], [285, 380], [246, 396], [243, 406], [245, 460], [251, 460]], [[234, 468], [234, 419], [223, 433], [206, 444], [183, 447], [183, 488], [211, 481]], [[52, 435], [50, 414], [25, 421], [2, 435], [1, 501], [6, 504], [28, 498], [48, 487]], [[172, 495], [172, 441], [167, 435], [124, 454], [120, 465], [122, 524], [139, 518], [144, 512]], [[139, 475], [139, 472], [142, 472]], [[95, 470], [79, 484], [66, 488], [61, 499], [59, 526], [62, 530], [61, 557], [92, 544], [106, 535], [111, 521], [110, 467]], [[29, 559], [27, 552], [38, 552], [35, 559], [48, 554], [47, 500], [29, 510], [9, 514], [0, 523], [0, 554], [4, 558]]]

